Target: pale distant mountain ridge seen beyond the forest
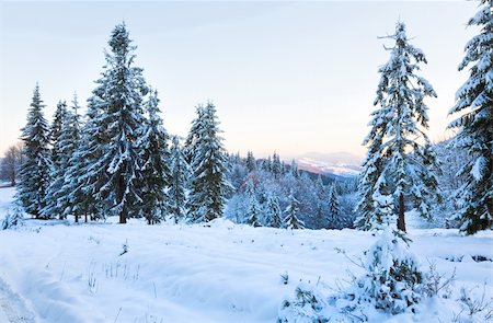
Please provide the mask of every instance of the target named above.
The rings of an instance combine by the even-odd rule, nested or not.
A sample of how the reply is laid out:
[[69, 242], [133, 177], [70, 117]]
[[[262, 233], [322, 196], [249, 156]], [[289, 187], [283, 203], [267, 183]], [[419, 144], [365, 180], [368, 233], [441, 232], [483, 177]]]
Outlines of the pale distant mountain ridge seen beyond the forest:
[[349, 152], [307, 152], [295, 157], [300, 170], [318, 174], [357, 176], [362, 171], [363, 158]]

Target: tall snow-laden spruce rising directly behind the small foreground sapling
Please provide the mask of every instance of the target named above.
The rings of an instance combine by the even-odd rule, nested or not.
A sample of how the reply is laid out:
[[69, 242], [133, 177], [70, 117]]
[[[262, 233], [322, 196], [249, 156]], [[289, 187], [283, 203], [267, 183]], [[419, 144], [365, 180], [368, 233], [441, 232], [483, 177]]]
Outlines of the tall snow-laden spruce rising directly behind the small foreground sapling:
[[[432, 85], [415, 74], [426, 58], [408, 42], [405, 25], [398, 22], [390, 60], [379, 68], [381, 79], [374, 105], [379, 105], [369, 123], [371, 130], [364, 140], [368, 146], [358, 184], [357, 224], [371, 228], [375, 216], [374, 193], [378, 182], [386, 181], [394, 197], [399, 230], [405, 231], [405, 205], [423, 217], [431, 218], [432, 199], [439, 199], [434, 170], [437, 165], [424, 132], [428, 127], [428, 107], [424, 100], [436, 96]], [[426, 178], [424, 181], [423, 178]]]

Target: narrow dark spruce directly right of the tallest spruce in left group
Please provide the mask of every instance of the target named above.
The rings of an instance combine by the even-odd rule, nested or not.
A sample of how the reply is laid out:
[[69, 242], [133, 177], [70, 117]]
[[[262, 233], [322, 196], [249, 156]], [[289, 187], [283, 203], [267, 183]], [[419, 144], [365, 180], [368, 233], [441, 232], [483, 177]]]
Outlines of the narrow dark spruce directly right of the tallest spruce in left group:
[[146, 109], [147, 120], [139, 130], [140, 137], [136, 147], [141, 150], [140, 172], [142, 181], [139, 184], [142, 208], [140, 216], [146, 217], [148, 224], [159, 223], [169, 211], [170, 197], [168, 186], [170, 185], [168, 134], [162, 126], [159, 116], [158, 92], [151, 91]]

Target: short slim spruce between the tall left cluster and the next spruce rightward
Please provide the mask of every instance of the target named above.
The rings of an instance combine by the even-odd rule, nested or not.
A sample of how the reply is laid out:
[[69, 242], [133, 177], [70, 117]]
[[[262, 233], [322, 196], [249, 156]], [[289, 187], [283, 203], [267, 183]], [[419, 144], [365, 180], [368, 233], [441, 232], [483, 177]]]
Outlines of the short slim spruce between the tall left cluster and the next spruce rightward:
[[186, 205], [186, 181], [188, 178], [188, 164], [185, 161], [185, 154], [180, 147], [176, 136], [173, 136], [170, 150], [170, 215], [174, 222], [185, 218]]

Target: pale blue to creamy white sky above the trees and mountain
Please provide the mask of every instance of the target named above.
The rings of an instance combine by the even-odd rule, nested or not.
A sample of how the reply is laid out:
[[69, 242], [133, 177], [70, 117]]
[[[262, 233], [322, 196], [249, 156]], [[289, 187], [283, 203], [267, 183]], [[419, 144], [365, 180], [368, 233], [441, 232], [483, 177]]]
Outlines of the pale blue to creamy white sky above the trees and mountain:
[[137, 66], [160, 93], [164, 126], [186, 136], [195, 106], [217, 106], [226, 148], [255, 157], [346, 151], [363, 138], [389, 59], [378, 36], [400, 19], [425, 53], [421, 76], [433, 140], [443, 139], [475, 1], [0, 2], [0, 153], [24, 126], [36, 82], [53, 119], [73, 92], [85, 105], [115, 24], [125, 20]]

